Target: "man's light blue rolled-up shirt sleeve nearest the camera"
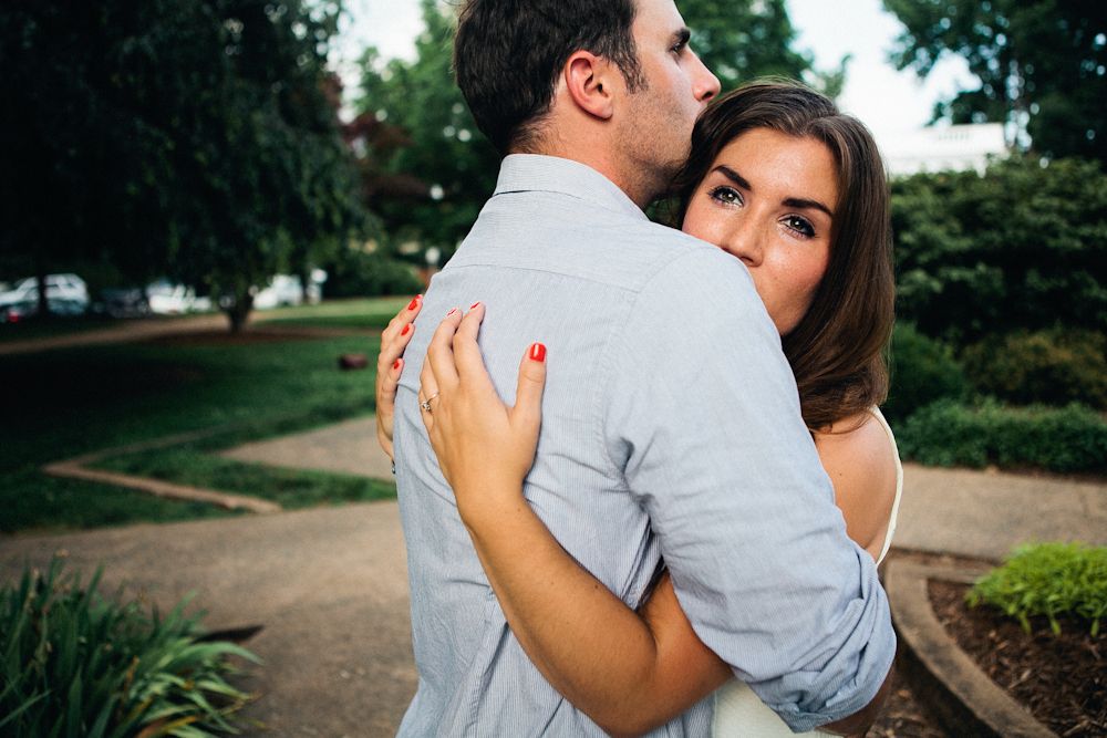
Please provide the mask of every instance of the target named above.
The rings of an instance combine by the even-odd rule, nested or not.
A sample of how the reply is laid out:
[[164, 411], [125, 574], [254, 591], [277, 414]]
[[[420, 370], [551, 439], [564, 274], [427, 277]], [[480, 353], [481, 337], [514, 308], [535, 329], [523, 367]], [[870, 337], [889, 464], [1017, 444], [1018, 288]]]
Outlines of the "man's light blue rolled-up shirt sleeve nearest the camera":
[[896, 651], [746, 269], [692, 249], [610, 342], [604, 447], [700, 638], [794, 730], [852, 715]]

